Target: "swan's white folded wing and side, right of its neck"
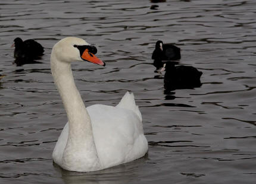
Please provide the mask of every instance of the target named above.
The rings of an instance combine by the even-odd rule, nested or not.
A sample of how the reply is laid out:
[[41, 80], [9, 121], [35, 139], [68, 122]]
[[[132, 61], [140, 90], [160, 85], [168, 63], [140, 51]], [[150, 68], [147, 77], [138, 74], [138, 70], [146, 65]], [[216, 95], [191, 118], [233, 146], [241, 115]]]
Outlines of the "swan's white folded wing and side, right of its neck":
[[87, 110], [103, 167], [135, 160], [148, 151], [142, 122], [135, 112], [99, 104], [90, 106]]

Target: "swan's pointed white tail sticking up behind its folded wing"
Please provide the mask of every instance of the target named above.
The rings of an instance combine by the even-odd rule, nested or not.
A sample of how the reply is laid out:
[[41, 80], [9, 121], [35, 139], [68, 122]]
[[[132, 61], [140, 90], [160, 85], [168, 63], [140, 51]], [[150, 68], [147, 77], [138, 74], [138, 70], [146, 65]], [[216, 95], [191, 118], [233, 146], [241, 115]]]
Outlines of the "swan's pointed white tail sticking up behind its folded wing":
[[139, 116], [139, 119], [142, 120], [141, 112], [139, 111], [139, 107], [135, 103], [133, 93], [129, 93], [127, 91], [116, 107], [132, 110], [133, 112], [136, 113], [136, 115]]

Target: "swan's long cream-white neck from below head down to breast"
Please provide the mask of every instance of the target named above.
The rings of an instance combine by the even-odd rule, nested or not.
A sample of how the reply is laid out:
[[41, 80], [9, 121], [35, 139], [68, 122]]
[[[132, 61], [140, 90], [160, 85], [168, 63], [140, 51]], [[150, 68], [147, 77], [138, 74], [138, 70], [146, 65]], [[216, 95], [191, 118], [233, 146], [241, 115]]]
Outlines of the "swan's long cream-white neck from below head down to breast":
[[[74, 83], [71, 65], [51, 56], [51, 71], [68, 118], [68, 139], [63, 163], [67, 165], [66, 169], [70, 170], [73, 165], [82, 164], [81, 157], [85, 157], [84, 164], [95, 162], [94, 164], [98, 165], [90, 116]], [[95, 167], [98, 167], [96, 165]]]

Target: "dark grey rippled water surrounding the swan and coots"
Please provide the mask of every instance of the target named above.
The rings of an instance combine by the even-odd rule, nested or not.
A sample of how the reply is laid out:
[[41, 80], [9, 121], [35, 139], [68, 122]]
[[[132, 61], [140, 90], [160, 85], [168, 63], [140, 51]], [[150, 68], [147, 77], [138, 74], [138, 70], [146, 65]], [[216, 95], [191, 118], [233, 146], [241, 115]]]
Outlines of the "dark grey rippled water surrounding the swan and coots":
[[[255, 183], [256, 2], [254, 0], [0, 2], [0, 183]], [[45, 47], [17, 66], [15, 37]], [[52, 46], [82, 37], [105, 67], [73, 65], [86, 106], [115, 105], [133, 91], [148, 157], [92, 173], [60, 170], [52, 150], [67, 122], [49, 69]], [[164, 94], [154, 72], [157, 40], [182, 49], [180, 64], [202, 86]], [[160, 75], [160, 76], [158, 76]]]

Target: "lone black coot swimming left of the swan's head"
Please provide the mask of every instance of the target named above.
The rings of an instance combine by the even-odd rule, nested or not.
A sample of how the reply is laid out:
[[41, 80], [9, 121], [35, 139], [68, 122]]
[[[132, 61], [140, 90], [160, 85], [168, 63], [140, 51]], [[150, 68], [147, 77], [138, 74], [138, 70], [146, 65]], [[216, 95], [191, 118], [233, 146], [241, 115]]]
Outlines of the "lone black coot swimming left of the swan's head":
[[14, 39], [14, 58], [22, 61], [32, 61], [43, 55], [43, 47], [33, 39], [21, 40], [19, 37]]

